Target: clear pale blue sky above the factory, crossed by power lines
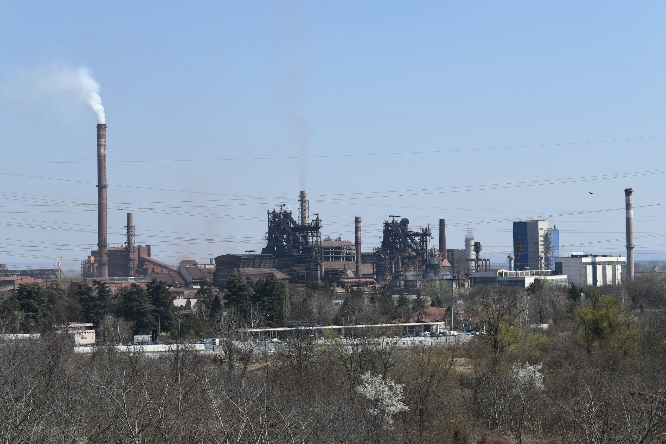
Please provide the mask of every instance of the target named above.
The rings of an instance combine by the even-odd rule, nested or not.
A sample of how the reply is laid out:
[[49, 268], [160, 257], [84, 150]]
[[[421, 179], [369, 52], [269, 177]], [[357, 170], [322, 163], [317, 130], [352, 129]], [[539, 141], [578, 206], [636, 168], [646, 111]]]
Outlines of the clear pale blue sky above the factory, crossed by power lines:
[[[0, 172], [95, 182], [95, 114], [73, 97], [13, 91], [35, 69], [85, 65], [109, 125], [112, 246], [132, 211], [137, 243], [165, 262], [255, 249], [266, 210], [295, 210], [304, 183], [324, 236], [351, 240], [361, 216], [369, 250], [389, 214], [413, 226], [444, 217], [450, 248], [473, 228], [482, 256], [500, 262], [511, 220], [621, 208], [628, 186], [636, 206], [666, 203], [664, 174], [349, 193], [663, 169], [665, 9], [0, 1]], [[293, 158], [303, 154], [315, 157]], [[380, 155], [321, 157], [333, 154]], [[0, 174], [0, 262], [85, 258], [95, 185], [37, 177]], [[651, 236], [637, 238], [639, 260], [666, 258], [665, 214], [635, 210], [637, 236]], [[623, 210], [550, 220], [563, 251], [623, 252]]]

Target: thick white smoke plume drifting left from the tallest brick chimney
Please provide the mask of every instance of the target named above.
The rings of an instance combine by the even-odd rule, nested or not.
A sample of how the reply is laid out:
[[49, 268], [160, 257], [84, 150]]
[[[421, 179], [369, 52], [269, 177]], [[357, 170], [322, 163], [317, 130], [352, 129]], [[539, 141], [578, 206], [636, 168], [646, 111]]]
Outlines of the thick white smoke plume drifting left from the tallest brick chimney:
[[106, 123], [99, 92], [100, 85], [93, 78], [91, 69], [85, 66], [74, 68], [61, 63], [21, 70], [4, 88], [5, 96], [15, 102], [39, 103], [47, 95], [71, 95], [95, 111], [97, 123]]

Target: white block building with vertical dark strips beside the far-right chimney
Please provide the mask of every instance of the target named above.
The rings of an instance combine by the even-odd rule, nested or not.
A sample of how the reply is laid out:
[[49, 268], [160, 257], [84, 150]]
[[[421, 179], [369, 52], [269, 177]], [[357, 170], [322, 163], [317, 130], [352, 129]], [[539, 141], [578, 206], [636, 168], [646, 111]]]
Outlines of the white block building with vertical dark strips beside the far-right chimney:
[[617, 285], [622, 282], [625, 260], [612, 254], [571, 254], [555, 258], [555, 273], [567, 275], [569, 283], [577, 286]]

